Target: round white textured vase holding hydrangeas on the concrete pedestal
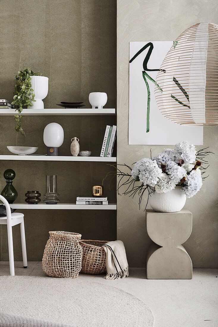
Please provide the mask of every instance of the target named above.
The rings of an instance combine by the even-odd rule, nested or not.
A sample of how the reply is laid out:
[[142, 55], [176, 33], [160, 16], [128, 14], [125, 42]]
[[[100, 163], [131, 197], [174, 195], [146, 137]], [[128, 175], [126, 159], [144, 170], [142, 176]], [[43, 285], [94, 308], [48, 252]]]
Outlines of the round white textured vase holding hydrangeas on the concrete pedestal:
[[167, 193], [157, 193], [149, 197], [149, 204], [157, 212], [178, 212], [186, 203], [186, 196], [182, 193], [181, 187], [176, 186]]

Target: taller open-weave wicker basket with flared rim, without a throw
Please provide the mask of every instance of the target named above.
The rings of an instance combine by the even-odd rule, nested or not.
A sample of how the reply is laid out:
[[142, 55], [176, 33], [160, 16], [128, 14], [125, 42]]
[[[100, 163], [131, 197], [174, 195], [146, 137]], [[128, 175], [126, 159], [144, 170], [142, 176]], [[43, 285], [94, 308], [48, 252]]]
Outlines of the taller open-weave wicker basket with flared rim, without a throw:
[[63, 231], [49, 234], [42, 260], [43, 270], [50, 277], [77, 277], [82, 267], [81, 234]]

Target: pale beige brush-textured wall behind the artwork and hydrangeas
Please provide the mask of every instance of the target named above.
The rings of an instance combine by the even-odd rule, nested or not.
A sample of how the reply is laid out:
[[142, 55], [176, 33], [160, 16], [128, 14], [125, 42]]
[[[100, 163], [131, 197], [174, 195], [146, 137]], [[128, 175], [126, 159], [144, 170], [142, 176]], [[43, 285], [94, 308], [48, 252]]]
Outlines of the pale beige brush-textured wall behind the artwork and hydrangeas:
[[[132, 164], [150, 157], [150, 146], [128, 145], [129, 42], [171, 41], [196, 23], [218, 24], [218, 7], [214, 0], [118, 0], [117, 3], [118, 163]], [[192, 233], [185, 248], [194, 267], [217, 266], [217, 132], [217, 127], [204, 128], [204, 147], [210, 146], [215, 155], [210, 156], [209, 178], [185, 205], [193, 214]], [[181, 140], [185, 140], [185, 135], [181, 135]], [[159, 153], [164, 147], [152, 146], [152, 152]], [[117, 237], [125, 243], [129, 265], [144, 267], [150, 239], [145, 213], [139, 212], [137, 199], [118, 196]]]

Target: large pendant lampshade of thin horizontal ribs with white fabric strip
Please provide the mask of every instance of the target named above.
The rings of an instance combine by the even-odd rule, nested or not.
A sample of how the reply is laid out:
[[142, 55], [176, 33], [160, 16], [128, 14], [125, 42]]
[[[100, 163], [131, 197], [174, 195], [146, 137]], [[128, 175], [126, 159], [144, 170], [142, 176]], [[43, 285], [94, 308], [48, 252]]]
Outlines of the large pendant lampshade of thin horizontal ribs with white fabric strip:
[[218, 25], [199, 23], [174, 42], [157, 74], [162, 114], [180, 125], [218, 124]]

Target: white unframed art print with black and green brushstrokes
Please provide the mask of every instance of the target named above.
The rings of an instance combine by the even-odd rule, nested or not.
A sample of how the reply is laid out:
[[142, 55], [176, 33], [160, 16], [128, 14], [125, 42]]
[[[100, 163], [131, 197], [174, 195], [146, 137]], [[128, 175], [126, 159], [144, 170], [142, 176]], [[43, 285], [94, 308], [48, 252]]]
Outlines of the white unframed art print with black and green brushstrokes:
[[202, 126], [181, 126], [165, 118], [154, 96], [155, 79], [173, 41], [130, 42], [129, 144], [203, 145]]

